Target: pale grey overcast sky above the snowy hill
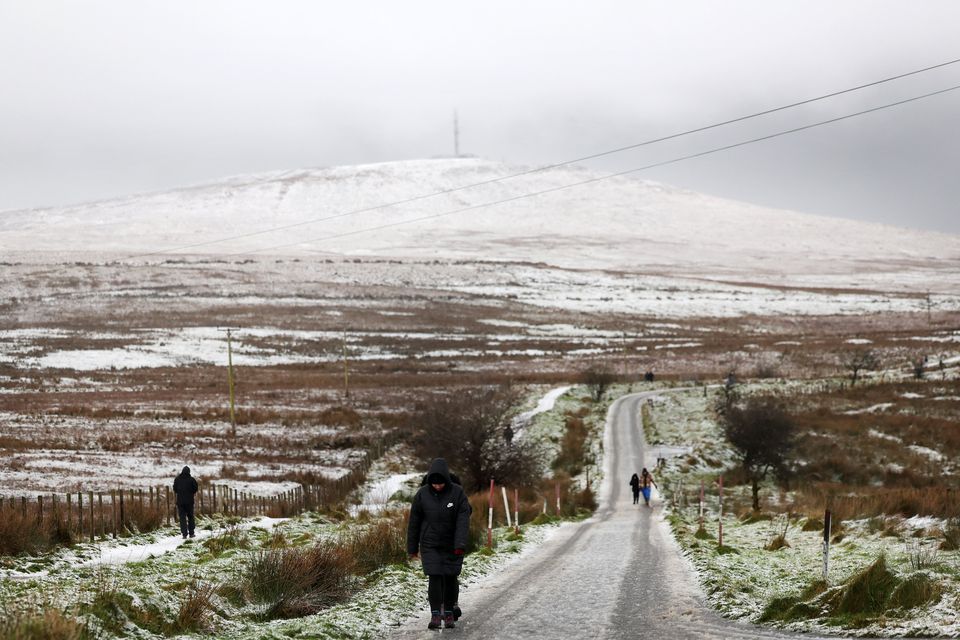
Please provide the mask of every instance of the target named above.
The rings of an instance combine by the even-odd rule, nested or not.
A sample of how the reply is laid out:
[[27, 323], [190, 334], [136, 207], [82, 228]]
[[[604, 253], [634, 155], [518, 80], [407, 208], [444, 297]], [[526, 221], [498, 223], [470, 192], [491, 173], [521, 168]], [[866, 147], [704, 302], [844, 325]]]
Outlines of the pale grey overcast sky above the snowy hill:
[[[960, 58], [960, 2], [3, 0], [0, 211], [452, 155], [538, 165]], [[960, 85], [960, 64], [589, 163]], [[960, 233], [960, 91], [637, 173]]]

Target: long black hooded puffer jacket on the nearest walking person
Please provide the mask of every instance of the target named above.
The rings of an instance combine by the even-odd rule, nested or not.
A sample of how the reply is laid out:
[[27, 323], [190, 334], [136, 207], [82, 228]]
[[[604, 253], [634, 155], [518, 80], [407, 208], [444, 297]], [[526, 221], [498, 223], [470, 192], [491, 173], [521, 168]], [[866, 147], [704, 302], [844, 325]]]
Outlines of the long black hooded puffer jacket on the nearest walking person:
[[[442, 478], [439, 493], [430, 482]], [[437, 458], [430, 464], [428, 482], [420, 487], [410, 507], [407, 527], [407, 552], [419, 553], [423, 572], [427, 575], [460, 575], [463, 555], [455, 549], [466, 549], [470, 527], [470, 503], [459, 485], [450, 479], [447, 461]]]

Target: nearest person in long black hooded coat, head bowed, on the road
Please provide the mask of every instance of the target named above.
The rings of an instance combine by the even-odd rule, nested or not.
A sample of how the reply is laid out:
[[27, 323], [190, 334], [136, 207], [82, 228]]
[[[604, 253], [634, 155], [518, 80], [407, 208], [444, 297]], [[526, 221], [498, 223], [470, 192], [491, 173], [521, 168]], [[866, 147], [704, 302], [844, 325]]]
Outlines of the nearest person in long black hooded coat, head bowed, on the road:
[[407, 553], [411, 560], [421, 559], [423, 572], [429, 579], [428, 629], [439, 629], [441, 623], [451, 629], [460, 617], [457, 576], [463, 568], [469, 529], [467, 495], [453, 483], [447, 461], [437, 458], [430, 463], [426, 484], [413, 497], [407, 526]]

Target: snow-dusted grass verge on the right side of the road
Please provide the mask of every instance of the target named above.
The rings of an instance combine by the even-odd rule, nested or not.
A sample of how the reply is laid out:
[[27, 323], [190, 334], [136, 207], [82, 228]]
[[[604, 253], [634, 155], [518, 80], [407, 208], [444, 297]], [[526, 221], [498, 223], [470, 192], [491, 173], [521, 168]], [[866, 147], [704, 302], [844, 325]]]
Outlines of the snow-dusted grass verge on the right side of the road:
[[[753, 386], [753, 385], [751, 385]], [[673, 500], [666, 518], [693, 566], [712, 607], [730, 618], [756, 622], [767, 605], [778, 597], [801, 598], [823, 575], [822, 523], [804, 527], [805, 517], [786, 515], [738, 519], [728, 508], [723, 516], [723, 548], [718, 547], [719, 509], [713, 480], [733, 466], [729, 446], [712, 418], [713, 394], [702, 389], [674, 391], [649, 405], [647, 435], [651, 443], [687, 443], [686, 456], [668, 459], [661, 470], [663, 484], [669, 485]], [[871, 429], [871, 437], [888, 436]], [[937, 452], [917, 453], [933, 457]], [[699, 526], [696, 488], [707, 480], [704, 532]], [[685, 489], [684, 489], [685, 487]], [[677, 500], [685, 491], [686, 502]], [[728, 500], [748, 499], [745, 487], [725, 487]], [[767, 499], [770, 489], [764, 489]], [[881, 555], [895, 575], [916, 575], [918, 562], [926, 561], [927, 572], [943, 590], [936, 602], [907, 610], [893, 610], [884, 616], [826, 618], [778, 622], [793, 631], [855, 636], [949, 636], [960, 635], [960, 551], [937, 550], [949, 523], [936, 518], [907, 520], [866, 519], [842, 523], [842, 537], [831, 545], [829, 584], [837, 586], [872, 564]], [[807, 528], [808, 531], [803, 529]], [[836, 529], [834, 530], [836, 532]], [[775, 551], [767, 547], [785, 533], [788, 546]]]

